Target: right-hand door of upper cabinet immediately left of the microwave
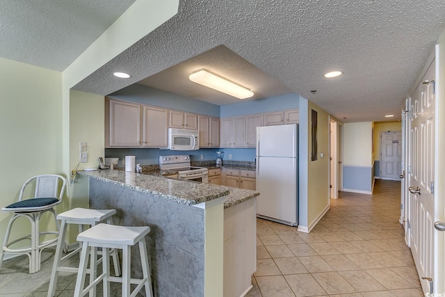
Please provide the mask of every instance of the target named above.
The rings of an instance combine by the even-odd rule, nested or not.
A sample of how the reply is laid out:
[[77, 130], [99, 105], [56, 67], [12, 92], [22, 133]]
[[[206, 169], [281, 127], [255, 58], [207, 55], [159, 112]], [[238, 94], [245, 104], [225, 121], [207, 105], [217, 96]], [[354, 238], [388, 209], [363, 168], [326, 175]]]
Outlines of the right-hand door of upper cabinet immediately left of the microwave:
[[143, 147], [168, 147], [168, 110], [143, 106]]

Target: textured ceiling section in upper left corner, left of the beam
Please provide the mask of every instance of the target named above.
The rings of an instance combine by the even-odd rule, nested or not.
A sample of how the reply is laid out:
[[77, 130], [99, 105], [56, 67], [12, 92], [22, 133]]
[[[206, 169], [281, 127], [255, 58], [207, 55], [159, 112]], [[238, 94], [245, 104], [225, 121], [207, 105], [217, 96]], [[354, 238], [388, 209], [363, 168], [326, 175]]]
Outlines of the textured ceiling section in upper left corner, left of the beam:
[[63, 71], [136, 0], [1, 0], [0, 57]]

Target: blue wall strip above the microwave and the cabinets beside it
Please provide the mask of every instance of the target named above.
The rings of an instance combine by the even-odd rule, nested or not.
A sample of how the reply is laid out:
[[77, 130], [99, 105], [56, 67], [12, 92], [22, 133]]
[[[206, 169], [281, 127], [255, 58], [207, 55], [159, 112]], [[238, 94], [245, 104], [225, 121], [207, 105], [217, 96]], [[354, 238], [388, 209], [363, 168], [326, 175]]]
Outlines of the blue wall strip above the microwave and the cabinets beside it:
[[220, 106], [218, 105], [138, 84], [133, 84], [115, 93], [111, 93], [108, 97], [159, 106], [165, 109], [177, 109], [179, 111], [188, 111], [190, 113], [209, 115], [216, 118], [220, 117]]

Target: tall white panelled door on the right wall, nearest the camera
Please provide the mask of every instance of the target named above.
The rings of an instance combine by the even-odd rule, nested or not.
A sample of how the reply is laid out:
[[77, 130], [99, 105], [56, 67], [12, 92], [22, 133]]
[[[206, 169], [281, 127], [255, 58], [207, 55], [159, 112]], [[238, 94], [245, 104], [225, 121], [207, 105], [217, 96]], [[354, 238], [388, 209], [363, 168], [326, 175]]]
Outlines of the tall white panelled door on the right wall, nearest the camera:
[[[411, 98], [410, 204], [411, 250], [424, 292], [430, 292], [435, 273], [435, 60], [423, 75]], [[426, 81], [430, 83], [424, 83]], [[443, 252], [443, 250], [442, 250]]]

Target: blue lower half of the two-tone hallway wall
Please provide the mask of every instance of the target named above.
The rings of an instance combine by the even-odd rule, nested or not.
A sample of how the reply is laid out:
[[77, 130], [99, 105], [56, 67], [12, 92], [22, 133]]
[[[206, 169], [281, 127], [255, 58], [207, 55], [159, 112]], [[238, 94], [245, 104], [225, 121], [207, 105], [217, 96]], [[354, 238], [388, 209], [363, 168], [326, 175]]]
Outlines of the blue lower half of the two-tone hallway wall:
[[343, 188], [371, 192], [373, 173], [373, 167], [343, 166]]

